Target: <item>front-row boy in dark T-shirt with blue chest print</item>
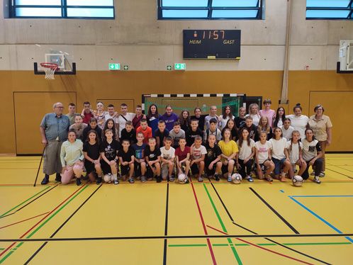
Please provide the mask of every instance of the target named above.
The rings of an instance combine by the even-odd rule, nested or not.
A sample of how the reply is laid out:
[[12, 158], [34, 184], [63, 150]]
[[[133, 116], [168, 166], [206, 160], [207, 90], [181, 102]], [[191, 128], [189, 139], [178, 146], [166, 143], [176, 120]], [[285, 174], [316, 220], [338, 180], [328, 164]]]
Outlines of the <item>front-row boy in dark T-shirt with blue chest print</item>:
[[146, 173], [146, 162], [145, 162], [145, 149], [146, 144], [143, 143], [144, 136], [143, 133], [138, 133], [136, 135], [138, 142], [133, 145], [133, 150], [135, 151], [135, 176], [140, 177], [141, 182], [145, 182], [145, 173]]

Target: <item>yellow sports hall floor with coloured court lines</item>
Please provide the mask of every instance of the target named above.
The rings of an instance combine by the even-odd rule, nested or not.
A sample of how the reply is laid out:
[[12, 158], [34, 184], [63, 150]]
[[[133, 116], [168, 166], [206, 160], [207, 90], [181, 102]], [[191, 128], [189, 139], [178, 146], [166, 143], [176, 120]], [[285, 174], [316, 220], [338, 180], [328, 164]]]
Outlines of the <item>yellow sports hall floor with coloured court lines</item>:
[[33, 187], [39, 162], [0, 157], [0, 264], [353, 262], [353, 154], [328, 154], [322, 184], [302, 187], [40, 186], [42, 174]]

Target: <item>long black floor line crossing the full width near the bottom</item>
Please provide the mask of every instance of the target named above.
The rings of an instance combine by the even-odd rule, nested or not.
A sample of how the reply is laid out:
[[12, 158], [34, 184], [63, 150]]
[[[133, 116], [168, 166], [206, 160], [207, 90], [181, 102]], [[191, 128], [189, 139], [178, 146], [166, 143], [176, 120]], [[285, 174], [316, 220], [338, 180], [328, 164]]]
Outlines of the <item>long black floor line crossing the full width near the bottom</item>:
[[101, 241], [101, 240], [136, 240], [136, 239], [185, 239], [185, 238], [265, 238], [265, 237], [352, 237], [350, 234], [279, 234], [279, 235], [156, 235], [134, 237], [58, 237], [58, 238], [18, 238], [0, 239], [0, 242], [65, 242], [65, 241]]

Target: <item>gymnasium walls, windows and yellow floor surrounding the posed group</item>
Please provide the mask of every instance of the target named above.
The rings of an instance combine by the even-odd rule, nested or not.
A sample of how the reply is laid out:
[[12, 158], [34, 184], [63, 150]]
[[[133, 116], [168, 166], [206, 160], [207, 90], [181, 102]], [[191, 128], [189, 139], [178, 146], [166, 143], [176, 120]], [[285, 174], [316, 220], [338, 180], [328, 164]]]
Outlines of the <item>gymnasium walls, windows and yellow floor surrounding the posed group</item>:
[[[353, 0], [1, 5], [0, 264], [351, 264]], [[59, 64], [54, 79], [45, 62]], [[324, 106], [320, 185], [40, 185], [39, 127], [56, 102], [64, 113], [85, 101], [160, 114], [170, 104], [177, 115], [233, 102], [237, 115], [265, 98], [308, 117]]]

